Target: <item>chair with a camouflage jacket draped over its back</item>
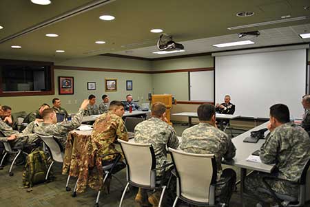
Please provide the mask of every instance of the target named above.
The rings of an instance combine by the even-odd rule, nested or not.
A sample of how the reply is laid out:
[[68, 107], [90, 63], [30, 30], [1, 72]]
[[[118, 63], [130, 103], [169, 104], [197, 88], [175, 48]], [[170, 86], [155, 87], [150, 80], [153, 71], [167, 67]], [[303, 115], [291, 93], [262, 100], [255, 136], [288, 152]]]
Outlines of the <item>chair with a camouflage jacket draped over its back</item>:
[[[125, 164], [123, 162], [120, 162], [122, 155], [121, 155], [121, 153], [108, 153], [108, 154], [102, 155], [101, 157], [103, 158], [103, 157], [106, 157], [108, 155], [116, 155], [116, 158], [114, 160], [112, 160], [112, 162], [109, 162], [108, 164], [105, 164], [102, 166], [103, 172], [105, 172], [105, 177], [103, 178], [103, 186], [104, 186], [105, 181], [108, 177], [114, 177], [119, 183], [121, 183], [121, 185], [123, 185], [121, 180], [114, 176], [115, 173], [117, 173], [118, 171], [121, 171], [123, 168], [125, 168]], [[69, 179], [69, 177], [68, 177], [68, 179]], [[76, 187], [77, 187], [78, 181], [79, 181], [79, 179], [76, 180], [74, 190], [72, 193], [72, 197], [76, 197]], [[95, 206], [99, 206], [100, 194], [101, 194], [101, 190], [99, 190], [97, 193], [96, 205]]]

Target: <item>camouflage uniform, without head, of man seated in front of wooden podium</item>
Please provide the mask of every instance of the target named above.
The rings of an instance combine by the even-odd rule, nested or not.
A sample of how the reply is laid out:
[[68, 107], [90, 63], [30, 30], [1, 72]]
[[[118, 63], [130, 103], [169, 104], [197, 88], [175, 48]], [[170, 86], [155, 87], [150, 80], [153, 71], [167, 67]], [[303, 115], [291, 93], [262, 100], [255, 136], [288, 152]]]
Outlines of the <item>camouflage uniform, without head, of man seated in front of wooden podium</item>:
[[[152, 117], [140, 122], [134, 128], [134, 142], [152, 144], [156, 155], [156, 168], [167, 161], [166, 145], [173, 149], [178, 147], [178, 138], [174, 128], [159, 118]], [[161, 175], [162, 171], [158, 171]]]

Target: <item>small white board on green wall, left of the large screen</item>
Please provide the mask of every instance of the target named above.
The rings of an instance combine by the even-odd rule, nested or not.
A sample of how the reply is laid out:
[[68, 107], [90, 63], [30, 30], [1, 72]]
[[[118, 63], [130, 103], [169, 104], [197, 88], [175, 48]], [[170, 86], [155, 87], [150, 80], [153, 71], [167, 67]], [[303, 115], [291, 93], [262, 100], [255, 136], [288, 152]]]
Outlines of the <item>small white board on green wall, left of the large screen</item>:
[[214, 102], [214, 70], [189, 72], [189, 100]]

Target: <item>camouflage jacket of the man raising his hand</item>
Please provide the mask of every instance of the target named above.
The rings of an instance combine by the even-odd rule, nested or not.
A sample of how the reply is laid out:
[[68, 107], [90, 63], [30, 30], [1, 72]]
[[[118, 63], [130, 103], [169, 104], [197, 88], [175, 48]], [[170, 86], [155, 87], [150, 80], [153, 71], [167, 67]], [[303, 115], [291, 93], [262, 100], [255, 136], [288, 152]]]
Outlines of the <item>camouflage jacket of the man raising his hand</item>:
[[58, 122], [56, 124], [47, 124], [44, 122], [31, 122], [23, 130], [23, 133], [37, 133], [39, 135], [54, 135], [59, 138], [59, 142], [65, 149], [65, 142], [67, 140], [68, 132], [81, 126], [83, 120], [84, 109], [79, 109], [76, 116], [71, 121]]

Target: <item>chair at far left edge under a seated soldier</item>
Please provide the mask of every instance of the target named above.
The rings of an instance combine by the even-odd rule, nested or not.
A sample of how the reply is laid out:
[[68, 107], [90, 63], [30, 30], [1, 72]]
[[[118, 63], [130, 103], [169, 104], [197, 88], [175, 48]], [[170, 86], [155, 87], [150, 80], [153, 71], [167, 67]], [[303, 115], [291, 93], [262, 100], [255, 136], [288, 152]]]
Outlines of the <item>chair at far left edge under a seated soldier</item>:
[[[2, 131], [0, 131], [0, 135], [3, 136], [3, 137], [5, 137], [5, 135], [3, 134]], [[10, 169], [9, 169], [9, 175], [10, 175], [10, 176], [13, 176], [14, 173], [12, 172], [12, 168], [13, 168], [13, 166], [14, 166], [14, 164], [15, 164], [17, 158], [18, 158], [19, 155], [21, 155], [21, 154], [28, 155], [28, 153], [26, 153], [25, 151], [23, 151], [23, 149], [24, 149], [25, 147], [30, 146], [30, 145], [27, 144], [27, 145], [23, 145], [23, 146], [13, 146], [13, 147], [11, 147], [11, 145], [10, 145], [9, 142], [1, 142], [1, 143], [2, 143], [3, 146], [4, 146], [4, 151], [3, 151], [4, 154], [3, 154], [3, 157], [2, 157], [1, 162], [0, 162], [0, 170], [3, 169], [3, 162], [4, 162], [5, 158], [6, 158], [6, 155], [8, 155], [8, 154], [17, 154], [17, 155], [14, 157], [14, 159], [13, 159], [13, 161], [12, 161], [12, 164], [11, 164], [11, 166], [10, 166]], [[33, 144], [33, 145], [35, 146], [35, 144]]]

